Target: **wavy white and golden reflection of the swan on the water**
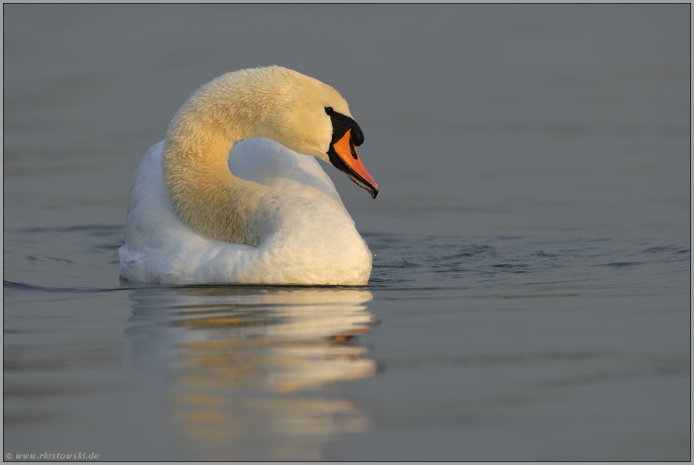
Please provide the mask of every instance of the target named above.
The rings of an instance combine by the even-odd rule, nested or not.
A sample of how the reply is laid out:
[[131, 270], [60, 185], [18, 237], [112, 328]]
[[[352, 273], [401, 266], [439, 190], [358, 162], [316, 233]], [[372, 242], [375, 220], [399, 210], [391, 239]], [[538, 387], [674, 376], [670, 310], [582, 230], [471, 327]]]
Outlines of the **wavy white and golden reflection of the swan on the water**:
[[130, 299], [127, 363], [164, 391], [200, 459], [325, 459], [334, 437], [368, 429], [334, 389], [376, 372], [351, 340], [372, 325], [368, 290], [142, 288]]

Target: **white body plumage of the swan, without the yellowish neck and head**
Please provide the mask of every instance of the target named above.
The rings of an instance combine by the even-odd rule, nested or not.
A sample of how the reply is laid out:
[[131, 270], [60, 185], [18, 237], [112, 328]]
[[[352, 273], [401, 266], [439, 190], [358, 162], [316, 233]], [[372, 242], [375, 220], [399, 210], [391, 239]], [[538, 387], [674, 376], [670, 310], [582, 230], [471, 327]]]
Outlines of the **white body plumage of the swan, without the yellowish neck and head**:
[[147, 284], [365, 285], [371, 253], [330, 178], [312, 156], [270, 139], [239, 142], [232, 173], [278, 190], [286, 201], [278, 229], [260, 246], [200, 236], [176, 216], [164, 191], [161, 147], [135, 173], [120, 275]]

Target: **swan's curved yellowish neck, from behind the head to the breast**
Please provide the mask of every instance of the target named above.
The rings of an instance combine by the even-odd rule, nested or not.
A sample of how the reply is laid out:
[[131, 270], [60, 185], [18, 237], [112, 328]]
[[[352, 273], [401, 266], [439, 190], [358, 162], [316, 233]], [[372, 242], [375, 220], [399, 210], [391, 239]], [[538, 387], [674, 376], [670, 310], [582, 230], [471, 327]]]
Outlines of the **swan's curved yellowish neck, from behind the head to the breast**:
[[221, 76], [188, 99], [169, 126], [161, 171], [169, 201], [188, 226], [210, 239], [257, 246], [265, 232], [261, 217], [272, 214], [277, 195], [232, 175], [227, 159], [239, 140], [271, 137], [263, 131], [271, 107], [258, 99], [263, 88], [244, 77]]

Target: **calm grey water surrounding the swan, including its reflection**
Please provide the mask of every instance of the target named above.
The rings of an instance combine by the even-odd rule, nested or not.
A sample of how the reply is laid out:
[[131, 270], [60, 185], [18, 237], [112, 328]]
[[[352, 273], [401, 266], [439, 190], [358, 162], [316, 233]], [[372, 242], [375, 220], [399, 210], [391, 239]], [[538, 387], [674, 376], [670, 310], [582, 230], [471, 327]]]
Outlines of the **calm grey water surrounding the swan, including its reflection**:
[[[5, 5], [4, 445], [105, 460], [689, 460], [690, 6]], [[338, 89], [367, 287], [137, 287], [198, 86]]]

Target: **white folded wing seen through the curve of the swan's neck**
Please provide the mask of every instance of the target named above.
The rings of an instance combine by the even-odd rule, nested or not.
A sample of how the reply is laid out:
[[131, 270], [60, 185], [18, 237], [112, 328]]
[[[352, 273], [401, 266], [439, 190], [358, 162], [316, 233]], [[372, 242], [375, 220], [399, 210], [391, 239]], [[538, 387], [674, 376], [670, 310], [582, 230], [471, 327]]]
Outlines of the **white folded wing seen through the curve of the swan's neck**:
[[234, 176], [275, 188], [282, 193], [321, 200], [349, 216], [329, 176], [313, 156], [297, 154], [263, 137], [246, 139], [229, 153]]

